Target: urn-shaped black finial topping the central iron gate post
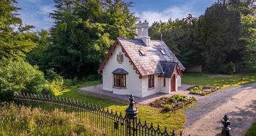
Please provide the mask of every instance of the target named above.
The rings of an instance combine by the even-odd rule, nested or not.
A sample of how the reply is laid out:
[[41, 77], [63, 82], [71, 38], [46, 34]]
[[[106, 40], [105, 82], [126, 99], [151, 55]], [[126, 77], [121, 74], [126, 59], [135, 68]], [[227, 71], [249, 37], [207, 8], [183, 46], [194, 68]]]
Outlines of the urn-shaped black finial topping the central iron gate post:
[[135, 103], [135, 102], [134, 102], [134, 96], [133, 96], [132, 94], [130, 95], [129, 100], [130, 100], [130, 105], [129, 105], [129, 107], [126, 108], [126, 110], [125, 110], [125, 112], [126, 112], [126, 117], [127, 117], [127, 118], [130, 118], [130, 119], [136, 118], [136, 117], [137, 117], [138, 110], [137, 110], [137, 108], [136, 108], [135, 105], [134, 105], [134, 103]]

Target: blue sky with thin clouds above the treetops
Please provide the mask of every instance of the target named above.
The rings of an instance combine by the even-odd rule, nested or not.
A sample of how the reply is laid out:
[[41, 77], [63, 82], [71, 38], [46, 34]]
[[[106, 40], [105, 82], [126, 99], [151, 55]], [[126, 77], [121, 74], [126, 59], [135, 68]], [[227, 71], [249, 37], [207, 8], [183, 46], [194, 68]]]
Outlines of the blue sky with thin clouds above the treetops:
[[[126, 2], [130, 0], [124, 0]], [[133, 0], [134, 7], [131, 11], [140, 20], [147, 20], [150, 24], [154, 21], [167, 21], [169, 18], [182, 19], [188, 14], [194, 17], [204, 14], [205, 9], [217, 0]], [[20, 18], [23, 24], [34, 25], [34, 31], [49, 29], [53, 23], [49, 13], [55, 9], [52, 0], [18, 0]]]

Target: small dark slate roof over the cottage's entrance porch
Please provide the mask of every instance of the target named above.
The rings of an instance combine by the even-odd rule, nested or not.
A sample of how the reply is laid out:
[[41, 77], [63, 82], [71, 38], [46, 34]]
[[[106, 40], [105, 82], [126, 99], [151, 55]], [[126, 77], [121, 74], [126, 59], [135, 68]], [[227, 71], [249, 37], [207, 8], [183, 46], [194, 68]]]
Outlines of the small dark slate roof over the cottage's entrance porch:
[[160, 64], [163, 69], [163, 73], [158, 75], [158, 77], [162, 77], [162, 78], [172, 77], [172, 74], [177, 62], [160, 61]]

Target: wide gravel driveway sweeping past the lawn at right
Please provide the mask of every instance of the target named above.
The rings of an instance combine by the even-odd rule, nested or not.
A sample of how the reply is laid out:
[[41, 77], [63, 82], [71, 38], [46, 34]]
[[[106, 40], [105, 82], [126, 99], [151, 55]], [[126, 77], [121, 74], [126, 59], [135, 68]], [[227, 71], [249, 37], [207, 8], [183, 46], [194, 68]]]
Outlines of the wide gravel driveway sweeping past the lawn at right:
[[200, 97], [185, 110], [188, 118], [185, 134], [216, 135], [221, 132], [221, 119], [227, 114], [233, 136], [242, 136], [256, 122], [256, 83], [222, 89]]

